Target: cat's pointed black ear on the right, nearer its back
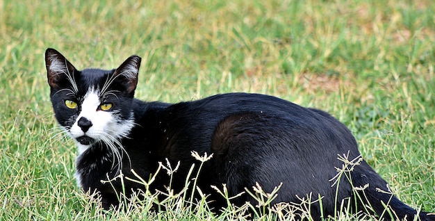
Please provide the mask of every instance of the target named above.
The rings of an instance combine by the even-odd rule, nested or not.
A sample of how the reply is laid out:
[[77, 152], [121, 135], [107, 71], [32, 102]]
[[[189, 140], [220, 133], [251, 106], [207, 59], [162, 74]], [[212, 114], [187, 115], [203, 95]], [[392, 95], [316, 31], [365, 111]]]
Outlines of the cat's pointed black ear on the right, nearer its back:
[[115, 70], [115, 73], [113, 73], [116, 79], [115, 81], [122, 81], [127, 93], [136, 90], [141, 60], [142, 58], [139, 56], [130, 56]]

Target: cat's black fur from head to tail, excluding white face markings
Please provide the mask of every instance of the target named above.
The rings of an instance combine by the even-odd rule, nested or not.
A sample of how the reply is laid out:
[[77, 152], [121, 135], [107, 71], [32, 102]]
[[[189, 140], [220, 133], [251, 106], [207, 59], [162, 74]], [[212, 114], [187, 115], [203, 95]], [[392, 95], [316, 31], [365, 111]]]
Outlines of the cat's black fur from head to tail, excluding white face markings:
[[[62, 116], [68, 115], [65, 113], [68, 110], [58, 104], [56, 99], [61, 99], [61, 96], [54, 95], [69, 85], [65, 79], [51, 80], [48, 57], [53, 55], [61, 56], [54, 49], [47, 49], [51, 99], [56, 118], [65, 126]], [[101, 84], [106, 76], [114, 72], [115, 69], [79, 72], [74, 68], [76, 81], [81, 85], [79, 92], [84, 94], [90, 85]], [[126, 84], [131, 86], [131, 82]], [[126, 177], [134, 177], [131, 173], [133, 168], [140, 177], [147, 179], [156, 172], [158, 162], [165, 162], [167, 158], [172, 165], [181, 163], [172, 181], [174, 190], [179, 191], [186, 182], [192, 163], [199, 164], [191, 152], [213, 154], [213, 158], [204, 163], [197, 185], [211, 195], [215, 208], [226, 206], [226, 203], [210, 188], [211, 185], [221, 187], [225, 183], [230, 195], [236, 195], [245, 188], [252, 188], [256, 182], [268, 193], [282, 183], [274, 202], [299, 202], [297, 196], [304, 197], [309, 193], [313, 193], [315, 200], [320, 194], [324, 214], [334, 215], [336, 185], [333, 185], [332, 178], [337, 174], [336, 167], [343, 166], [338, 156], [344, 155], [353, 160], [359, 158], [360, 152], [352, 133], [328, 113], [277, 97], [245, 93], [215, 95], [179, 104], [144, 102], [133, 99], [136, 83], [133, 84], [133, 90], [126, 87], [130, 88], [129, 92], [125, 92], [126, 88], [120, 89], [122, 83], [113, 85], [120, 91], [118, 96], [122, 97], [122, 115], [126, 118], [125, 111], [133, 111], [136, 123], [128, 138], [121, 140], [130, 157], [128, 159], [124, 155], [123, 158], [122, 173]], [[53, 85], [58, 85], [58, 88]], [[111, 184], [101, 183], [101, 180], [118, 174], [104, 143], [95, 143], [81, 154], [76, 161], [76, 170], [81, 175], [82, 188], [99, 191], [105, 208], [119, 204], [111, 185], [120, 192], [120, 179]], [[377, 190], [388, 192], [387, 183], [366, 161], [354, 166], [349, 179], [356, 187], [369, 185], [364, 190], [368, 199], [355, 202], [354, 191], [357, 190], [352, 189], [348, 179], [342, 178], [338, 202], [351, 200], [357, 210], [363, 210], [363, 204], [370, 203], [378, 215], [384, 211], [382, 202], [389, 202], [388, 207], [397, 218], [412, 220], [416, 215], [416, 210], [395, 196]], [[163, 190], [168, 183], [169, 176], [161, 172], [152, 183], [151, 190]], [[127, 194], [143, 188], [138, 183], [126, 181]], [[247, 201], [256, 204], [247, 194], [234, 199], [233, 203], [240, 205]], [[312, 205], [311, 215], [315, 220], [320, 219], [319, 204]], [[391, 218], [387, 215], [385, 219]], [[425, 212], [420, 213], [420, 219], [435, 220], [433, 215]]]

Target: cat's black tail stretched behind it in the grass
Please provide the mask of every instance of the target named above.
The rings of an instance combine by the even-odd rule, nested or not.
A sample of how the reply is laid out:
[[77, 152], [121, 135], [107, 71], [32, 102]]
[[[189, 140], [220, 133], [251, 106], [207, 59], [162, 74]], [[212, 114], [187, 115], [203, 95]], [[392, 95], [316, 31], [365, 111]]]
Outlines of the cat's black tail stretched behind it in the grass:
[[435, 213], [416, 211], [397, 199], [388, 188], [388, 183], [366, 161], [354, 167], [352, 182], [359, 201], [359, 210], [375, 213], [384, 220], [435, 221]]

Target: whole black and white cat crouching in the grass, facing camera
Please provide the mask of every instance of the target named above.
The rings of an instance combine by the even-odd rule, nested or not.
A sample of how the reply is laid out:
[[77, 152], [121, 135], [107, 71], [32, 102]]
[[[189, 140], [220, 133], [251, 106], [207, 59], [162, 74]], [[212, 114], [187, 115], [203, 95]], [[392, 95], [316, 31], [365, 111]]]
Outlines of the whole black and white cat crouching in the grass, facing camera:
[[[237, 195], [258, 182], [270, 193], [279, 186], [274, 202], [300, 202], [310, 193], [313, 200], [322, 196], [322, 204], [311, 205], [311, 215], [320, 219], [334, 215], [336, 200], [350, 203], [358, 211], [384, 212], [384, 205], [395, 218], [413, 220], [417, 211], [400, 202], [388, 191], [388, 184], [366, 161], [359, 161], [349, 179], [334, 185], [336, 168], [343, 167], [338, 156], [360, 158], [356, 140], [350, 131], [328, 113], [303, 108], [277, 97], [230, 93], [198, 101], [165, 104], [134, 99], [141, 58], [131, 56], [112, 70], [79, 71], [58, 51], [47, 49], [48, 83], [51, 102], [58, 123], [79, 147], [76, 179], [83, 190], [98, 191], [104, 208], [117, 206], [122, 183], [113, 179], [122, 173], [133, 177], [133, 169], [148, 179], [167, 158], [180, 162], [172, 178], [179, 191], [186, 183], [192, 163], [191, 152], [213, 157], [204, 163], [197, 186], [209, 195], [215, 208], [226, 202], [211, 185], [227, 185], [230, 195]], [[170, 177], [159, 173], [150, 190], [164, 190]], [[363, 199], [354, 197], [366, 186]], [[127, 194], [145, 188], [124, 180]], [[368, 186], [367, 186], [368, 184]], [[115, 190], [114, 190], [115, 188]], [[336, 198], [337, 197], [337, 198]], [[366, 199], [364, 199], [366, 198]], [[245, 194], [233, 204], [252, 202]], [[388, 213], [387, 213], [388, 214]], [[421, 220], [435, 220], [434, 215], [419, 214]], [[386, 215], [386, 220], [391, 218]]]

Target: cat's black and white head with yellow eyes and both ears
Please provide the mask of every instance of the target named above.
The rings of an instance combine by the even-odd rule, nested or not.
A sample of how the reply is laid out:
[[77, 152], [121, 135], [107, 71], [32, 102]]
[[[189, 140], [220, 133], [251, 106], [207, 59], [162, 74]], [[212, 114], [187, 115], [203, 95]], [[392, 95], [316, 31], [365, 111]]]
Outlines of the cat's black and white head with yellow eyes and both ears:
[[56, 119], [80, 153], [97, 142], [109, 144], [129, 135], [140, 60], [131, 56], [117, 69], [79, 71], [55, 49], [45, 52]]

